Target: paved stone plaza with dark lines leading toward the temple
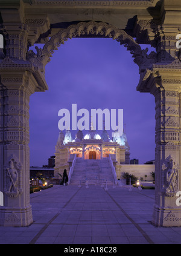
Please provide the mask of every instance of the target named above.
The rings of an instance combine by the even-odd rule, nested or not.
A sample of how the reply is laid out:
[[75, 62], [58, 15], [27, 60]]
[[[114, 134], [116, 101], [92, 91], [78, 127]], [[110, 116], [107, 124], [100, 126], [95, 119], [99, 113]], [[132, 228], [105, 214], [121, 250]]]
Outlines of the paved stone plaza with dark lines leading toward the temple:
[[181, 244], [181, 227], [150, 224], [154, 190], [54, 185], [30, 198], [34, 223], [24, 228], [1, 226], [1, 244]]

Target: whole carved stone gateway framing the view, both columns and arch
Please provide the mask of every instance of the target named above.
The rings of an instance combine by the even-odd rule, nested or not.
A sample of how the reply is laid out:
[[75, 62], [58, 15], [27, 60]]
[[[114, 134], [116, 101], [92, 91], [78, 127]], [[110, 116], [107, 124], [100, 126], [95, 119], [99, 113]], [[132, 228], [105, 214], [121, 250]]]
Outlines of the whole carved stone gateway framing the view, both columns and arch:
[[[54, 10], [56, 16], [52, 15]], [[137, 90], [155, 97], [153, 223], [181, 226], [181, 206], [176, 205], [176, 192], [181, 191], [181, 62], [176, 48], [180, 10], [180, 0], [0, 2], [0, 34], [4, 37], [4, 49], [0, 48], [0, 191], [7, 191], [4, 206], [0, 206], [1, 226], [28, 226], [33, 222], [29, 194], [30, 96], [48, 90], [45, 66], [51, 54], [68, 39], [84, 36], [112, 38], [124, 45], [139, 66]], [[28, 51], [36, 42], [45, 44], [43, 49]], [[139, 43], [153, 45], [156, 53], [148, 55]], [[14, 185], [7, 168], [17, 173]]]

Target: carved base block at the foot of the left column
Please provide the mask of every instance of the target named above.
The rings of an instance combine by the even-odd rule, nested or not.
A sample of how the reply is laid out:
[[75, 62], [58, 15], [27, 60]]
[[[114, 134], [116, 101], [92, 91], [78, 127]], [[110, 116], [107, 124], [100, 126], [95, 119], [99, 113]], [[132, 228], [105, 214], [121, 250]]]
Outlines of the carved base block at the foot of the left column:
[[0, 226], [24, 227], [33, 223], [31, 205], [27, 208], [1, 207]]

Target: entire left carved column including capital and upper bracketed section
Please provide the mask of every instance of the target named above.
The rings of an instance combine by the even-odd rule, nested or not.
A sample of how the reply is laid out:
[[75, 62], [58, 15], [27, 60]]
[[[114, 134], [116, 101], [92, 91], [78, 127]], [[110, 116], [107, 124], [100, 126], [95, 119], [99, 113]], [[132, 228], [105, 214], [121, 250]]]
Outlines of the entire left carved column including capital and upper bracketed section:
[[[46, 15], [25, 18], [24, 3], [1, 9], [0, 34], [0, 226], [28, 226], [30, 205], [29, 99], [34, 91], [48, 89], [45, 65], [28, 51], [49, 28]], [[40, 49], [36, 47], [36, 50]]]

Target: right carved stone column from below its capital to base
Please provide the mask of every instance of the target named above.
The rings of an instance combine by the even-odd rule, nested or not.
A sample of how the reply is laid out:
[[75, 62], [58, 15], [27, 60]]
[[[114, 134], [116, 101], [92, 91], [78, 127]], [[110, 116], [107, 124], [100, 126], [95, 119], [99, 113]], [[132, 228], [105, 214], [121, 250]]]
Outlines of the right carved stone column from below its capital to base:
[[[171, 70], [170, 70], [171, 71]], [[180, 184], [180, 91], [176, 73], [168, 77], [163, 68], [153, 77], [151, 93], [156, 102], [155, 205], [153, 223], [181, 226], [181, 207], [177, 206]], [[177, 73], [178, 74], [178, 73]], [[174, 77], [174, 78], [173, 78]]]

